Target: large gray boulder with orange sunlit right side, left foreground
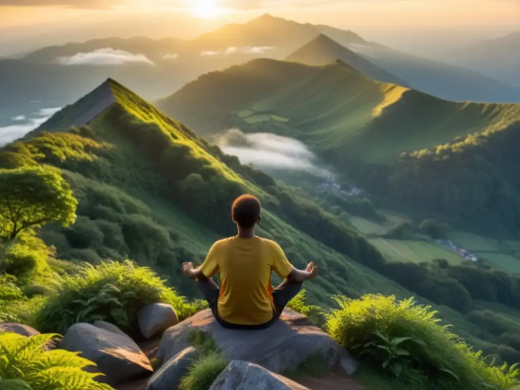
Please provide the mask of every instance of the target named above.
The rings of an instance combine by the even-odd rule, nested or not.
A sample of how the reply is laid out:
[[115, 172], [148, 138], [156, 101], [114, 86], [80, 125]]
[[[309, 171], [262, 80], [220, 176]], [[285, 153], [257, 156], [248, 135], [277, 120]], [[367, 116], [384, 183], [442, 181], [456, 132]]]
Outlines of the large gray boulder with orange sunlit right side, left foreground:
[[70, 327], [59, 348], [81, 352], [82, 357], [95, 362], [97, 367], [88, 370], [105, 374], [98, 379], [110, 385], [139, 379], [153, 372], [150, 361], [132, 339], [88, 323], [76, 323]]

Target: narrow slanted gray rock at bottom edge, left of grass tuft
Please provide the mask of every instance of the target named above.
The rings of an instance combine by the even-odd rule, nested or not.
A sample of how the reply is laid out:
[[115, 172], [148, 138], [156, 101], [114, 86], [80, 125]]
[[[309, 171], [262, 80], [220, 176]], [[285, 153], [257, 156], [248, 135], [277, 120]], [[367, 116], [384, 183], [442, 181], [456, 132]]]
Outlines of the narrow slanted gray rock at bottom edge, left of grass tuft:
[[168, 360], [148, 381], [145, 390], [172, 390], [188, 372], [197, 349], [188, 347]]

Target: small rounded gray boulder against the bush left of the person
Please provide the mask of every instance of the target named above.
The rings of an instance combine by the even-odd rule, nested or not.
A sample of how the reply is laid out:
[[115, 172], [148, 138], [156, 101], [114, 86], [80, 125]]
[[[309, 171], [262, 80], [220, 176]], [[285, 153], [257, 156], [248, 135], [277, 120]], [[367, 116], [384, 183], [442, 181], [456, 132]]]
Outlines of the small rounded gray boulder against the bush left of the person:
[[179, 323], [177, 313], [172, 305], [152, 303], [139, 311], [137, 317], [141, 334], [147, 339], [160, 336], [163, 332]]

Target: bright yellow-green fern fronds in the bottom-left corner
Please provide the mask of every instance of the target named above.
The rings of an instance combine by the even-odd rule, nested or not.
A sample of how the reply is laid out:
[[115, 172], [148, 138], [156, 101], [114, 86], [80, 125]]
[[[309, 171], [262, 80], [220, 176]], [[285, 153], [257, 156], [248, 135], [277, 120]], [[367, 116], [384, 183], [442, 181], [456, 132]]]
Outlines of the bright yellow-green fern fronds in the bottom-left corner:
[[90, 360], [63, 349], [43, 347], [56, 334], [25, 337], [0, 333], [0, 388], [3, 390], [112, 390], [97, 383], [99, 373], [83, 369], [95, 366]]

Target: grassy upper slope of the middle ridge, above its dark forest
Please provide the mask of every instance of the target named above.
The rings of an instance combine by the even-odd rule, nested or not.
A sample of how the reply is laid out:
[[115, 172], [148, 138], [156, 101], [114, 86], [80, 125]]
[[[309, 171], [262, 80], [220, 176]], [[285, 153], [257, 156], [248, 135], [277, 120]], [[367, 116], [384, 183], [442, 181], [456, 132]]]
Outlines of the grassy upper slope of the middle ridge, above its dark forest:
[[[240, 92], [234, 90], [232, 96], [212, 93], [216, 87], [236, 88], [239, 82]], [[159, 107], [196, 125], [201, 135], [231, 125], [247, 131], [251, 128], [247, 118], [237, 115], [244, 109], [276, 114], [289, 122], [276, 126], [268, 122], [255, 129], [275, 129], [323, 154], [336, 154], [340, 160], [341, 155], [358, 155], [367, 163], [389, 162], [401, 152], [432, 148], [457, 136], [498, 131], [520, 120], [520, 105], [441, 100], [368, 80], [341, 62], [308, 67], [255, 60], [202, 76], [161, 101]]]

